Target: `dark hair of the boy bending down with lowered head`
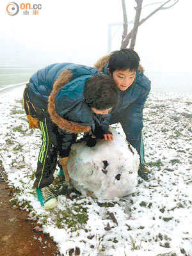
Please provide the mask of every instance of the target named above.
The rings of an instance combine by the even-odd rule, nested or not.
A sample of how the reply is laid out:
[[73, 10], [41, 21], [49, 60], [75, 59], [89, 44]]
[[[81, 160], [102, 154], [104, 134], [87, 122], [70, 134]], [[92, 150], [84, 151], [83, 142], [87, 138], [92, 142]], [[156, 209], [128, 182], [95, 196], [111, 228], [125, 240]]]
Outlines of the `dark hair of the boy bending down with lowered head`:
[[118, 88], [111, 76], [99, 74], [86, 80], [84, 101], [90, 108], [114, 108], [118, 104]]

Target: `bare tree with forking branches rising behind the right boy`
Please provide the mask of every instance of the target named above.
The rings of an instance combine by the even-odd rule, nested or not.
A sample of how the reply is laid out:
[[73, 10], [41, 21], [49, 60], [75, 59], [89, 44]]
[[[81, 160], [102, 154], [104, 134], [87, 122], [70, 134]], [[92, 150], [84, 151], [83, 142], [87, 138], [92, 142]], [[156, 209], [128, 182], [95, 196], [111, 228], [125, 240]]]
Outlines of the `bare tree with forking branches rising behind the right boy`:
[[[152, 17], [152, 15], [154, 15], [158, 11], [169, 9], [169, 8], [171, 8], [172, 6], [174, 6], [175, 4], [177, 4], [179, 2], [179, 0], [167, 0], [164, 3], [152, 3], [152, 4], [160, 4], [160, 6], [158, 8], [156, 8], [153, 12], [149, 13], [147, 15], [147, 17], [140, 20], [142, 4], [143, 4], [143, 1], [145, 1], [145, 0], [135, 0], [135, 1], [136, 1], [136, 8], [135, 8], [136, 9], [136, 15], [134, 17], [134, 25], [133, 25], [132, 30], [128, 33], [127, 12], [126, 12], [125, 0], [122, 0], [122, 9], [123, 9], [123, 15], [124, 15], [124, 32], [123, 32], [123, 35], [122, 35], [121, 49], [127, 48], [127, 46], [130, 43], [129, 48], [133, 50], [134, 45], [136, 43], [136, 36], [137, 36], [137, 33], [138, 33], [139, 26], [141, 24], [143, 24], [143, 22], [148, 20], [150, 17]], [[173, 1], [175, 3], [173, 3]], [[152, 4], [147, 4], [146, 6], [152, 5]], [[170, 4], [170, 5], [168, 6], [168, 4]], [[144, 7], [146, 7], [146, 6], [144, 6]]]

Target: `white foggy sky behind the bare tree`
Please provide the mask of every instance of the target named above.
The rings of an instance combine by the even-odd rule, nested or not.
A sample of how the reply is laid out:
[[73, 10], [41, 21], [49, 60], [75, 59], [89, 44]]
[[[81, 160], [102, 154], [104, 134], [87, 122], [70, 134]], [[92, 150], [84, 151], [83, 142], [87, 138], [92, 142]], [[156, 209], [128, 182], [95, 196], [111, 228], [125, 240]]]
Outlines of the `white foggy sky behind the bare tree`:
[[[143, 0], [143, 6], [155, 1]], [[140, 26], [135, 51], [145, 70], [192, 71], [191, 2], [180, 0]], [[15, 0], [17, 4], [42, 4], [38, 15], [32, 15], [31, 10], [24, 15], [20, 10], [15, 16], [6, 13], [8, 3], [0, 2], [0, 65], [41, 67], [74, 62], [92, 66], [108, 53], [108, 24], [123, 21], [121, 0]], [[132, 20], [135, 1], [127, 0], [126, 4]], [[142, 17], [157, 6], [144, 8]], [[120, 48], [122, 28], [113, 27], [115, 32], [112, 51]]]

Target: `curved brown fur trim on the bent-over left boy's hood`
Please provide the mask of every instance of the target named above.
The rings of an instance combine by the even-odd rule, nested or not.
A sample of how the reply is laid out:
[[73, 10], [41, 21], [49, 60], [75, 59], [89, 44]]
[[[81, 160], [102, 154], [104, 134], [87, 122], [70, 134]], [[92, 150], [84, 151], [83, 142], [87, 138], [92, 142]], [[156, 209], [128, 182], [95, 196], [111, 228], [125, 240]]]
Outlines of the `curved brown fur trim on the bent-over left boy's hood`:
[[51, 116], [52, 122], [54, 122], [60, 129], [65, 130], [70, 133], [78, 132], [89, 132], [91, 127], [78, 124], [76, 122], [71, 122], [61, 117], [56, 111], [56, 96], [60, 89], [67, 83], [69, 83], [72, 78], [73, 73], [70, 70], [64, 69], [58, 79], [54, 82], [51, 95], [49, 96], [48, 103], [48, 113]]

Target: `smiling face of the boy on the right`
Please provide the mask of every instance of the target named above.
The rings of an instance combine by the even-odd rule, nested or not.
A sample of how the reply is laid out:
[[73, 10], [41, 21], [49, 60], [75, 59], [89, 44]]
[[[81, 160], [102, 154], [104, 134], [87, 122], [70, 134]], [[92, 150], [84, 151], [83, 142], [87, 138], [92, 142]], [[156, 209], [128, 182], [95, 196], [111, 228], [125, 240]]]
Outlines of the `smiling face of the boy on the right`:
[[129, 86], [131, 86], [131, 84], [134, 82], [135, 76], [136, 72], [130, 71], [129, 69], [116, 69], [113, 72], [113, 79], [120, 91], [126, 91], [127, 88], [129, 88]]

